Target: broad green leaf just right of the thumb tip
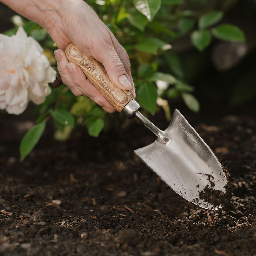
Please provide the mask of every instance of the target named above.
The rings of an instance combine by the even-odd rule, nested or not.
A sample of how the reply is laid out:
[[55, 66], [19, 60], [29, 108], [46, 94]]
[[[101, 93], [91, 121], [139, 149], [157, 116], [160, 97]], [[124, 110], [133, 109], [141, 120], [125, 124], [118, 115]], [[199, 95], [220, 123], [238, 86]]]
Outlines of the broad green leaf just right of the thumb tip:
[[152, 115], [155, 113], [157, 88], [152, 83], [142, 83], [138, 89], [140, 104]]

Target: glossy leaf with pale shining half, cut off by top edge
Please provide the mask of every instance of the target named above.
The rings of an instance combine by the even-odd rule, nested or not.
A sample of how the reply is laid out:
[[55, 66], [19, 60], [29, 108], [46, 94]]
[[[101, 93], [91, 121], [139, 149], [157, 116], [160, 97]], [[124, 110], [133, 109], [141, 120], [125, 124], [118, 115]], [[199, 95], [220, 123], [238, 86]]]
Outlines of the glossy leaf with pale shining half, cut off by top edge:
[[160, 9], [161, 0], [133, 0], [135, 8], [152, 21]]

